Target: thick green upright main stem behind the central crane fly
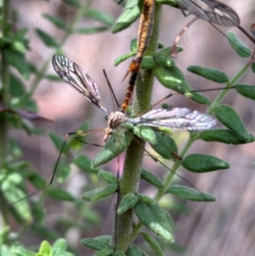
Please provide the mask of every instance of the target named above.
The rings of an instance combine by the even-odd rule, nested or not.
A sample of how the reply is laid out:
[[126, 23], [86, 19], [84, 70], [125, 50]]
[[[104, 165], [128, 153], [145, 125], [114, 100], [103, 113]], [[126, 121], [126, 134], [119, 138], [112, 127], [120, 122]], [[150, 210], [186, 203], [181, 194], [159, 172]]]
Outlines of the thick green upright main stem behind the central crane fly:
[[[146, 54], [155, 55], [158, 32], [161, 17], [161, 4], [156, 4], [154, 27], [150, 45]], [[150, 107], [150, 100], [153, 88], [153, 71], [139, 71], [139, 76], [136, 83], [135, 94], [133, 96], [133, 115], [138, 115], [142, 111]], [[139, 145], [138, 145], [139, 142]], [[144, 141], [136, 138], [131, 142], [127, 148], [126, 159], [124, 162], [122, 179], [120, 180], [120, 199], [127, 193], [137, 193], [139, 188], [139, 179], [141, 172], [141, 165], [144, 156]], [[116, 218], [116, 249], [127, 251], [127, 248], [132, 242], [131, 232], [133, 224], [133, 209], [126, 213], [117, 215]]]

